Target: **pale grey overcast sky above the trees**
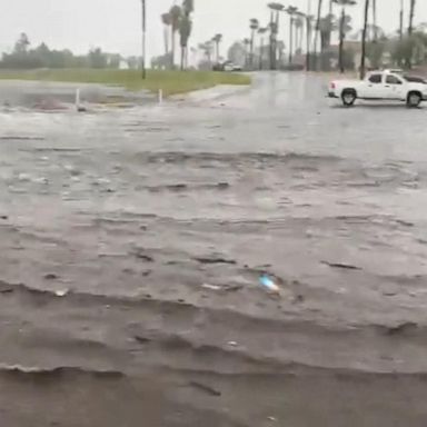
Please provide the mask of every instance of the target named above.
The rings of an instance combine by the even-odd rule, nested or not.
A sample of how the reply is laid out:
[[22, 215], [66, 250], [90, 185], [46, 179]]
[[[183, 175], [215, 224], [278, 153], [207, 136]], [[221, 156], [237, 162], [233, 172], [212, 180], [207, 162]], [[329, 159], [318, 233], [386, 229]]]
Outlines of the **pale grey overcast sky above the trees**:
[[[178, 0], [179, 2], [180, 0]], [[360, 3], [363, 0], [358, 0]], [[409, 3], [409, 0], [405, 0]], [[192, 44], [224, 34], [225, 44], [248, 36], [248, 20], [268, 21], [268, 0], [195, 0]], [[400, 0], [377, 0], [378, 23], [387, 31], [397, 29]], [[138, 54], [140, 39], [140, 0], [4, 0], [0, 6], [0, 50], [10, 49], [24, 31], [33, 44], [46, 41], [50, 47], [87, 52], [102, 47], [110, 52]], [[173, 0], [147, 0], [148, 54], [162, 53], [160, 13]], [[307, 10], [308, 0], [284, 1]], [[317, 0], [311, 0], [312, 12]], [[324, 0], [328, 3], [328, 0]], [[418, 0], [416, 21], [427, 21], [427, 0]], [[327, 8], [327, 4], [325, 4]], [[326, 9], [325, 8], [325, 9]], [[351, 8], [354, 26], [361, 26], [361, 6]], [[287, 31], [282, 28], [282, 38]]]

